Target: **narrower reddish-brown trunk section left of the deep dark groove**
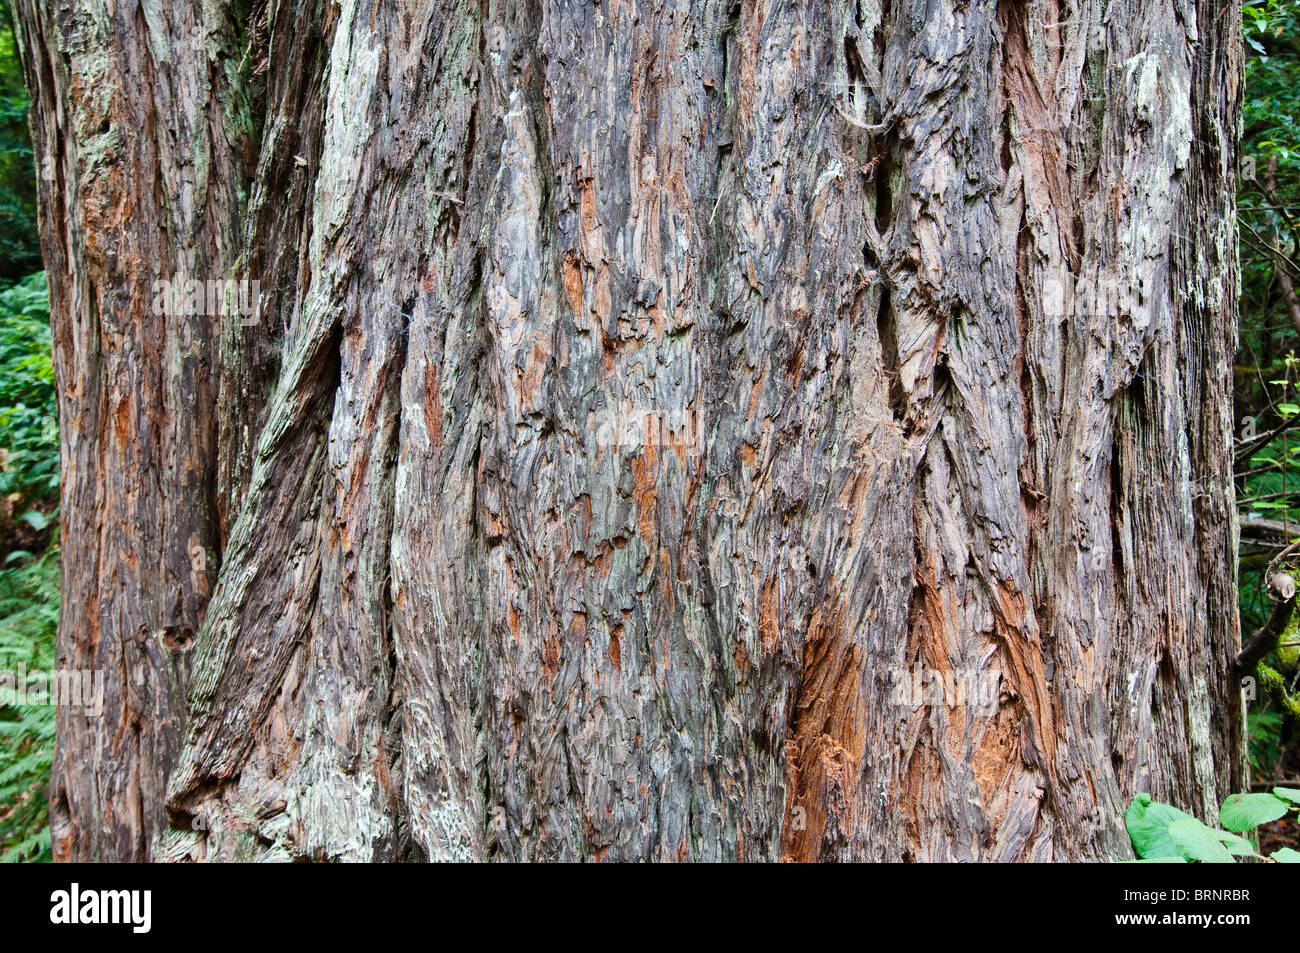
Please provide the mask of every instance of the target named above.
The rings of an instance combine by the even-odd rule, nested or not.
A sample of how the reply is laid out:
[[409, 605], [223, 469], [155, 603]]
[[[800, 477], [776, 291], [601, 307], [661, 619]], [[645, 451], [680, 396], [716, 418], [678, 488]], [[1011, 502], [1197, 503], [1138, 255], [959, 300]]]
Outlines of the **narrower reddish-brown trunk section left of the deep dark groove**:
[[105, 714], [60, 720], [60, 859], [144, 859], [185, 714], [185, 649], [214, 566], [211, 319], [157, 281], [225, 270], [242, 176], [196, 4], [20, 4], [42, 157], [62, 421], [60, 666], [101, 672]]

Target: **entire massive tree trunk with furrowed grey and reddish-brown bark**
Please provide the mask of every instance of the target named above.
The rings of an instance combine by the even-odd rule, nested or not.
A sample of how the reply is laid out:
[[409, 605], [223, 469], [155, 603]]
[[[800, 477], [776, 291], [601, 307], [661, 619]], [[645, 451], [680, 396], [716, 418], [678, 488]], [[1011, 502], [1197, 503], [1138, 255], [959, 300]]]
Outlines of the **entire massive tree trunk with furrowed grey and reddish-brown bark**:
[[1235, 4], [18, 14], [58, 858], [1093, 859], [1232, 788]]

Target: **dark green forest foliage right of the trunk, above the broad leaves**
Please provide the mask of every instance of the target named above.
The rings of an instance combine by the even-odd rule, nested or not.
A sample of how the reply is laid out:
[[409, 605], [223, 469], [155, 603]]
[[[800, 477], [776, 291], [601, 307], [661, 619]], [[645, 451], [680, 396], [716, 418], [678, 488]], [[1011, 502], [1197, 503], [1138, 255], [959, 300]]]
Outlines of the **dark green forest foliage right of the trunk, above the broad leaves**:
[[[1300, 0], [1247, 0], [1242, 9], [1245, 90], [1238, 209], [1242, 261], [1234, 395], [1243, 527], [1300, 525], [1300, 328], [1287, 280], [1300, 287]], [[1253, 172], [1253, 174], [1252, 174]], [[1253, 434], [1282, 428], [1264, 446]], [[1240, 612], [1248, 636], [1273, 603], [1262, 572], [1284, 532], [1242, 534]], [[1256, 777], [1284, 774], [1296, 732], [1300, 646], [1290, 629], [1256, 673], [1248, 740]]]

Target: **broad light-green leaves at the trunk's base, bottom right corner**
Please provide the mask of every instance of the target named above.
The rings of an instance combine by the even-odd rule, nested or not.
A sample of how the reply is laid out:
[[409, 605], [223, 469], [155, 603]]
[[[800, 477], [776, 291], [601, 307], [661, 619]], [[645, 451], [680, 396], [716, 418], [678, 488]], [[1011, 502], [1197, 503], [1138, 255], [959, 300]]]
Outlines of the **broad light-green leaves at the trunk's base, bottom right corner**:
[[1235, 863], [1235, 857], [1251, 857], [1275, 863], [1295, 863], [1300, 853], [1291, 848], [1262, 857], [1256, 845], [1242, 835], [1260, 824], [1300, 810], [1300, 790], [1274, 788], [1271, 794], [1230, 794], [1219, 809], [1221, 831], [1150, 794], [1138, 794], [1124, 811], [1124, 827], [1134, 853], [1143, 861], [1169, 863]]

